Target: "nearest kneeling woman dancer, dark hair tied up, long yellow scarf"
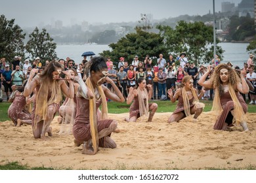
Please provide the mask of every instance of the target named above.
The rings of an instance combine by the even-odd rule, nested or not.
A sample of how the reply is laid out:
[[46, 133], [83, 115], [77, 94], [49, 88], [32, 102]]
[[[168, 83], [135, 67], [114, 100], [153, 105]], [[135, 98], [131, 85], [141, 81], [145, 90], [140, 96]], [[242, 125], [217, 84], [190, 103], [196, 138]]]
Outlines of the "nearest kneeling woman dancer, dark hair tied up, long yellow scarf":
[[[106, 97], [112, 101], [123, 102], [122, 93], [112, 79], [108, 77], [108, 67], [104, 58], [95, 57], [88, 62], [90, 76], [86, 76], [85, 84], [80, 84], [76, 93], [77, 112], [73, 126], [75, 145], [83, 144], [83, 154], [96, 154], [98, 146], [116, 148], [116, 142], [110, 138], [112, 132], [117, 132], [117, 121], [108, 119]], [[112, 85], [112, 93], [104, 82]], [[86, 85], [86, 86], [85, 86]], [[102, 105], [101, 116], [97, 110]]]

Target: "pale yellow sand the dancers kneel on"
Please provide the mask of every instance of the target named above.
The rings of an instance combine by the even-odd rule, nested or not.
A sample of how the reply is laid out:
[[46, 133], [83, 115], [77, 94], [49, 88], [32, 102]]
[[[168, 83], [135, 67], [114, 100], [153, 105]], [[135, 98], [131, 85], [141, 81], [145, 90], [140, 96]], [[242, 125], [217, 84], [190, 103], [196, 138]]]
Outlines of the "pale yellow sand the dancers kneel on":
[[58, 135], [60, 125], [52, 123], [53, 137], [34, 139], [31, 125], [14, 127], [0, 123], [0, 163], [18, 161], [31, 167], [55, 169], [234, 169], [256, 165], [256, 113], [248, 113], [249, 132], [242, 127], [213, 130], [213, 117], [203, 112], [198, 122], [184, 119], [167, 124], [171, 112], [156, 113], [154, 122], [123, 121], [128, 113], [109, 114], [118, 121], [120, 133], [112, 138], [117, 148], [100, 148], [94, 156], [81, 154], [72, 135]]

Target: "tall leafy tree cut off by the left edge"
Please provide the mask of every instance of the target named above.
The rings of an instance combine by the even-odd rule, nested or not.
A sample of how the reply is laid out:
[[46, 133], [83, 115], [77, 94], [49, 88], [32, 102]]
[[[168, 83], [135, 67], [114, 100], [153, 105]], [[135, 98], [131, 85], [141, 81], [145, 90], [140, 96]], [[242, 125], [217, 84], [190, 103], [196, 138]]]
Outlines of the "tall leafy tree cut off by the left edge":
[[24, 58], [25, 33], [18, 25], [14, 25], [15, 19], [7, 20], [2, 14], [0, 16], [0, 57], [12, 61], [14, 56]]

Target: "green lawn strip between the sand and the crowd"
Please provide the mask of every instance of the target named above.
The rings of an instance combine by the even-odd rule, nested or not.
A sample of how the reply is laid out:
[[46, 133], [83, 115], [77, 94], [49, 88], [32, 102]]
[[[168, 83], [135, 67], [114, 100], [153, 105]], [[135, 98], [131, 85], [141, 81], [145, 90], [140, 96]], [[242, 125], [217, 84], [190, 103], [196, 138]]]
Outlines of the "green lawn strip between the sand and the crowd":
[[[171, 101], [150, 101], [150, 103], [158, 104], [158, 110], [156, 112], [173, 112], [177, 105], [177, 102], [171, 103]], [[203, 112], [211, 110], [213, 101], [202, 100], [202, 103], [205, 103]], [[0, 103], [0, 122], [10, 120], [7, 114], [7, 110], [10, 105], [11, 103], [7, 102]], [[129, 112], [129, 107], [130, 105], [127, 105], [127, 103], [116, 103], [113, 101], [108, 102], [108, 112], [112, 114]], [[256, 105], [248, 105], [248, 112], [256, 112]]]

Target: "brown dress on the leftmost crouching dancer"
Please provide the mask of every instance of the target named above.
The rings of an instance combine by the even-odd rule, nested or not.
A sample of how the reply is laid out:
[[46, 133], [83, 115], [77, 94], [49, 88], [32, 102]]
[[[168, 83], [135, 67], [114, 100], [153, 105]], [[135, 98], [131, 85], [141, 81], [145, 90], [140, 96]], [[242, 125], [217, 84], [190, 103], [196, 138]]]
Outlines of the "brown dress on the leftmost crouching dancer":
[[14, 101], [8, 109], [8, 116], [11, 118], [14, 125], [17, 125], [17, 120], [31, 120], [32, 116], [26, 107], [26, 97], [24, 95], [18, 95], [17, 92], [14, 93]]

